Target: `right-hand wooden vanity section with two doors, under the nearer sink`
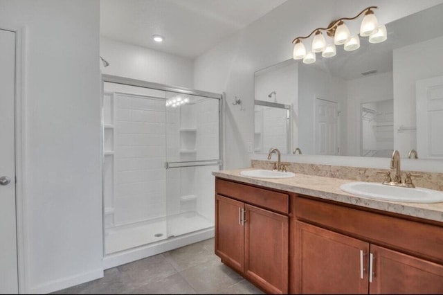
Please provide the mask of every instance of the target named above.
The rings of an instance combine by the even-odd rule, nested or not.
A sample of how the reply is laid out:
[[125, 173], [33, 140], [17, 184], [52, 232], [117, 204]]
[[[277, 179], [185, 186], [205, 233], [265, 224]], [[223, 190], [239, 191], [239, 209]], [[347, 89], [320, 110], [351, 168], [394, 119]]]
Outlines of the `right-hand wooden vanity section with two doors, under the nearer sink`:
[[304, 197], [293, 204], [291, 293], [443, 294], [442, 226]]

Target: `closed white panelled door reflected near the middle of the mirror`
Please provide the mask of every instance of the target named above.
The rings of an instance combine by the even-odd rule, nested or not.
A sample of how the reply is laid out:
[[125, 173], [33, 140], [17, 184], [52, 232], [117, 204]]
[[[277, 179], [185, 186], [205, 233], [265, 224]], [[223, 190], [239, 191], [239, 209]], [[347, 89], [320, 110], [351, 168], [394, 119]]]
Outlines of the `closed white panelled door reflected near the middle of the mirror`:
[[316, 98], [316, 154], [338, 154], [338, 103]]

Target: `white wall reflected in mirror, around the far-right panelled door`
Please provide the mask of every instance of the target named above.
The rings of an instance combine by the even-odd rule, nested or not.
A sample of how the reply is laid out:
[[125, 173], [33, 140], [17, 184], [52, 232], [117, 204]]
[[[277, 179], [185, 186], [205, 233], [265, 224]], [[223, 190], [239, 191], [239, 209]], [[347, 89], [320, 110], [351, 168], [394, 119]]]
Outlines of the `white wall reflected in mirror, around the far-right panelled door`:
[[[438, 37], [394, 51], [394, 109], [402, 110], [401, 113], [395, 113], [394, 142], [395, 149], [402, 157], [405, 157], [410, 149], [417, 150], [415, 130], [398, 132], [401, 125], [417, 127], [415, 81], [443, 74], [442, 48], [443, 37]], [[433, 58], [424, 59], [424, 56]], [[407, 69], [414, 71], [406, 71]]]

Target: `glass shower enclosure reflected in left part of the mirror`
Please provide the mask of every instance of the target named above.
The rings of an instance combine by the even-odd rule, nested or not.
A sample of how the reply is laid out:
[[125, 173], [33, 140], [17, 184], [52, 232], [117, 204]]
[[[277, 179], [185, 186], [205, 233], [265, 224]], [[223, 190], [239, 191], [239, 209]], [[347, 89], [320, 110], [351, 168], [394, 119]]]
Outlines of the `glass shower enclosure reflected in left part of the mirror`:
[[290, 146], [290, 106], [255, 100], [254, 152], [267, 153], [272, 147], [287, 154]]

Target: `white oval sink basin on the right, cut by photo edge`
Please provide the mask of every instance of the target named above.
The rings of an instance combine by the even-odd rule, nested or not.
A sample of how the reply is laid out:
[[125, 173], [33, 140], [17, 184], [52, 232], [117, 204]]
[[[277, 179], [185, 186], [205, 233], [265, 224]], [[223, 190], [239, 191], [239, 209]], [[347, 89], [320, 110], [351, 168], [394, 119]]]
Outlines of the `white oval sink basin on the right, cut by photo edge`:
[[443, 202], [443, 192], [427, 188], [402, 188], [373, 182], [350, 182], [342, 184], [340, 188], [346, 193], [370, 199], [412, 203]]

